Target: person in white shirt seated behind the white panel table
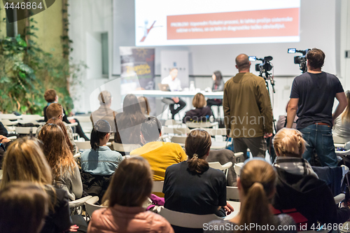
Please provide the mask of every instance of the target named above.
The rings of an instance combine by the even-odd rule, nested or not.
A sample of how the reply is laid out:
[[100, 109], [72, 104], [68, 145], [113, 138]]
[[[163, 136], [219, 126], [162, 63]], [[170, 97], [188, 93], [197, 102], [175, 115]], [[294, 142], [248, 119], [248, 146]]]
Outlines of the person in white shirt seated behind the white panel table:
[[[169, 76], [163, 78], [162, 80], [162, 84], [169, 85], [169, 89], [172, 92], [179, 92], [182, 90], [181, 81], [179, 78], [177, 78], [177, 74], [178, 70], [176, 68], [173, 68], [170, 70]], [[172, 113], [172, 119], [174, 119], [174, 116], [186, 106], [186, 102], [179, 97], [164, 98], [162, 101], [165, 104], [169, 104], [170, 112]], [[174, 108], [175, 104], [179, 105], [176, 109]]]

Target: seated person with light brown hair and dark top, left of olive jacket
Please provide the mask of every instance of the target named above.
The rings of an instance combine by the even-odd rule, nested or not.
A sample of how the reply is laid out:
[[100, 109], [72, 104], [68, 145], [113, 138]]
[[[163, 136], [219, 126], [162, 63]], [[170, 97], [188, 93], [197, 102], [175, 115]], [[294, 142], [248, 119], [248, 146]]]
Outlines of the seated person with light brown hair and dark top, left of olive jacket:
[[209, 106], [207, 106], [207, 101], [202, 93], [197, 93], [195, 97], [193, 97], [192, 101], [195, 109], [186, 112], [185, 117], [182, 119], [183, 123], [188, 121], [193, 122], [207, 122], [213, 113]]

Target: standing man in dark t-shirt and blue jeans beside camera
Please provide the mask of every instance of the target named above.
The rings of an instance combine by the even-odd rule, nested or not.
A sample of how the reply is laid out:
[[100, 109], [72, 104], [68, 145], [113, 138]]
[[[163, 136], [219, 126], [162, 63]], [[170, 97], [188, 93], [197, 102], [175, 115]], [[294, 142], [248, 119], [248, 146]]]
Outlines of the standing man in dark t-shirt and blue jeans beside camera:
[[[321, 71], [325, 59], [322, 50], [313, 48], [306, 57], [307, 73], [294, 79], [290, 92], [287, 128], [292, 127], [296, 114], [297, 129], [309, 144], [302, 157], [311, 162], [316, 150], [323, 167], [337, 167], [332, 125], [347, 105], [346, 96], [339, 79]], [[332, 115], [334, 98], [339, 104]]]

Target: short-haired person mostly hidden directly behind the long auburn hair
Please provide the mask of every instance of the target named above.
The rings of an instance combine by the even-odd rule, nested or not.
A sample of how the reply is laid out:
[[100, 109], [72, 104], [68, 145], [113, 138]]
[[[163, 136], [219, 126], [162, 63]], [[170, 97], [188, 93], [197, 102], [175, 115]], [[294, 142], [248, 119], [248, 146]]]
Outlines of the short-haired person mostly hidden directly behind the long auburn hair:
[[[48, 106], [48, 108], [46, 108], [46, 114], [48, 116], [48, 119], [57, 118], [57, 119], [62, 121], [62, 118], [63, 118], [63, 115], [64, 115], [62, 105], [61, 104], [57, 104], [57, 103], [50, 104]], [[76, 143], [74, 142], [73, 130], [66, 123], [64, 123], [64, 126], [66, 127], [66, 134], [69, 137], [69, 141], [71, 142], [71, 145], [73, 145], [73, 154], [75, 155], [76, 153], [78, 153], [78, 149], [76, 148]], [[42, 128], [43, 128], [43, 126], [41, 125], [36, 130], [36, 135], [35, 135], [36, 138], [38, 137], [39, 132], [41, 132]]]

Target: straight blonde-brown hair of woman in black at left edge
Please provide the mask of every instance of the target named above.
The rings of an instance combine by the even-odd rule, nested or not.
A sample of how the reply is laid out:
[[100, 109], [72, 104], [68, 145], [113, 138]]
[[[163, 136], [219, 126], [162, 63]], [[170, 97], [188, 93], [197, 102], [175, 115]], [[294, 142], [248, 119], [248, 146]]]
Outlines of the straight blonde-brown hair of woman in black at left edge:
[[29, 181], [42, 185], [52, 183], [51, 168], [38, 140], [27, 137], [17, 139], [6, 150], [0, 189], [12, 181]]

